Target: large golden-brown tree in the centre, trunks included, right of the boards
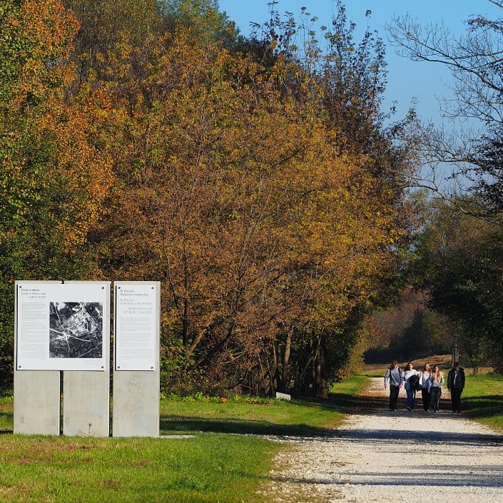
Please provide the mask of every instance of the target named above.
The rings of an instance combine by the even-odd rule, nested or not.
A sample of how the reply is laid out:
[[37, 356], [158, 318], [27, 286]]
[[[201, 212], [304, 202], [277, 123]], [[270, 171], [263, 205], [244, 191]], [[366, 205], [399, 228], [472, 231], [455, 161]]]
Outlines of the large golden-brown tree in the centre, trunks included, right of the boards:
[[92, 85], [123, 122], [96, 267], [163, 281], [171, 386], [324, 395], [395, 281], [401, 189], [345, 147], [320, 76], [201, 39], [213, 19], [103, 54]]

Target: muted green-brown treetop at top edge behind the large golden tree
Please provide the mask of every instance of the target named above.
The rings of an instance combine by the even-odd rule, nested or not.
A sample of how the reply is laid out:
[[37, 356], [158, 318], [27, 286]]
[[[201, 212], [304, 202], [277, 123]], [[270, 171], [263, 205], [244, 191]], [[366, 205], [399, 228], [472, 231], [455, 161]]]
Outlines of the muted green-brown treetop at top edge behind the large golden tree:
[[238, 30], [215, 0], [64, 0], [81, 23], [73, 56], [81, 81], [114, 81], [108, 60], [121, 48], [141, 47], [151, 36], [161, 36], [183, 24], [201, 43], [222, 41], [229, 49], [244, 44]]

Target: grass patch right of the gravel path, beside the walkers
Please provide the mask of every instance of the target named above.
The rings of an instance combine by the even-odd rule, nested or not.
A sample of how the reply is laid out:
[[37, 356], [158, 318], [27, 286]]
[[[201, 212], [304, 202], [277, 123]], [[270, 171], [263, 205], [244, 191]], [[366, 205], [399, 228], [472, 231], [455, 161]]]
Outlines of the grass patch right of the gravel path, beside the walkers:
[[474, 420], [503, 430], [502, 375], [467, 375], [461, 403]]

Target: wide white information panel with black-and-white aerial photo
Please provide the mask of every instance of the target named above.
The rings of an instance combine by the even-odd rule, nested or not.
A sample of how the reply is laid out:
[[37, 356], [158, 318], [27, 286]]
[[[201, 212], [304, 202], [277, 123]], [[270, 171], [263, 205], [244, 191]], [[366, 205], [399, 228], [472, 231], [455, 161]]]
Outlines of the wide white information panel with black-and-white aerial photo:
[[16, 282], [16, 370], [104, 371], [109, 295], [104, 281]]

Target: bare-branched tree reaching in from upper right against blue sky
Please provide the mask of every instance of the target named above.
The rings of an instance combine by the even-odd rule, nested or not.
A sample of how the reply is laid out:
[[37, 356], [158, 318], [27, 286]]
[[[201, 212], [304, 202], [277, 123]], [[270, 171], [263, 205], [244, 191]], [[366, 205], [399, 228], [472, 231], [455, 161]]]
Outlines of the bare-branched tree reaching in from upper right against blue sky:
[[[488, 1], [503, 9], [501, 1]], [[452, 166], [452, 178], [471, 182], [468, 190], [475, 196], [460, 209], [493, 218], [502, 208], [502, 21], [474, 16], [467, 21], [467, 33], [458, 39], [444, 24], [420, 26], [410, 16], [395, 19], [389, 30], [399, 54], [413, 61], [440, 63], [451, 71], [454, 99], [444, 100], [444, 115], [479, 126], [459, 135], [425, 130], [423, 160], [432, 168], [427, 186], [452, 203], [462, 203], [447, 194], [437, 177], [439, 166]], [[461, 127], [458, 121], [457, 128]]]

